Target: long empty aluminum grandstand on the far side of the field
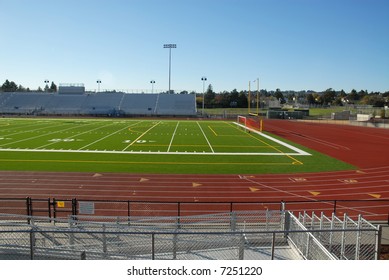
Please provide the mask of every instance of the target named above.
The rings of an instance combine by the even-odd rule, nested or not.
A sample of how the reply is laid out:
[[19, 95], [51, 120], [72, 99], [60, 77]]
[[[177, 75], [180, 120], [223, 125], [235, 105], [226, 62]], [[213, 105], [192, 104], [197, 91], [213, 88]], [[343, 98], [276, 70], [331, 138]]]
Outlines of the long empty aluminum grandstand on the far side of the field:
[[194, 116], [194, 94], [1, 92], [0, 113], [11, 115]]

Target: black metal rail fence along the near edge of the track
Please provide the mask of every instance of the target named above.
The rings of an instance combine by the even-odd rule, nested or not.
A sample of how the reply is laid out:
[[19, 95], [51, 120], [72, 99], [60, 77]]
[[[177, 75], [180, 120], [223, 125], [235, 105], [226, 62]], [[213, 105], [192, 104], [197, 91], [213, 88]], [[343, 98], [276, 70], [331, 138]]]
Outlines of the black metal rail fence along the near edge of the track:
[[89, 216], [189, 216], [234, 211], [289, 210], [323, 212], [389, 224], [389, 199], [258, 201], [258, 202], [166, 202], [130, 200], [82, 200], [60, 198], [0, 198], [0, 213], [63, 218], [69, 215]]

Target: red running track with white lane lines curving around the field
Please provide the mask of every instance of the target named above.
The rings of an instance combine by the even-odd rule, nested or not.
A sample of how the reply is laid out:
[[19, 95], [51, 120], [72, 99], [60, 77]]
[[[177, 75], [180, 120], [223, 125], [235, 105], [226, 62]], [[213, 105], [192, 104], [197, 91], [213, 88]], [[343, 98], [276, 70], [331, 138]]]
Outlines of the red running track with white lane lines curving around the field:
[[[289, 210], [324, 211], [328, 215], [337, 200], [337, 215], [362, 214], [367, 219], [387, 220], [389, 149], [385, 146], [389, 143], [389, 130], [278, 120], [266, 121], [266, 130], [359, 169], [277, 175], [0, 171], [0, 197], [160, 202], [154, 208], [151, 203], [143, 206], [153, 215], [160, 215], [161, 209], [170, 209], [168, 202], [188, 203], [183, 204], [181, 213], [202, 214], [220, 211], [220, 205], [223, 211], [228, 211], [227, 202], [235, 203], [233, 210], [279, 209], [281, 200]], [[119, 215], [119, 208], [115, 211], [110, 206], [110, 211], [104, 208], [98, 213]]]

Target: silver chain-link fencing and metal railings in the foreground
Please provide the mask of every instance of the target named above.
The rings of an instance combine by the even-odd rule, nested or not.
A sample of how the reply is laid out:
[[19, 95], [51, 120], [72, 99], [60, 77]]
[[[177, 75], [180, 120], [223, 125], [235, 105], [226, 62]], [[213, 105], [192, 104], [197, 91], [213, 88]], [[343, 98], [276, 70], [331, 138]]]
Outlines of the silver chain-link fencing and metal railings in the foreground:
[[376, 259], [380, 240], [362, 218], [288, 211], [0, 218], [0, 259]]

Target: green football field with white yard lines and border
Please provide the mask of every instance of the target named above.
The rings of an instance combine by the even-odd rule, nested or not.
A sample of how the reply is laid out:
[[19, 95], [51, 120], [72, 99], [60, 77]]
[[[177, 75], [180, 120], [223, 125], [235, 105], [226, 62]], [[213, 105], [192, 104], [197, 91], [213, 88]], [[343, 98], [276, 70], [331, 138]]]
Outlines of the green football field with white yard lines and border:
[[0, 119], [0, 170], [195, 174], [334, 171], [348, 164], [232, 121]]

